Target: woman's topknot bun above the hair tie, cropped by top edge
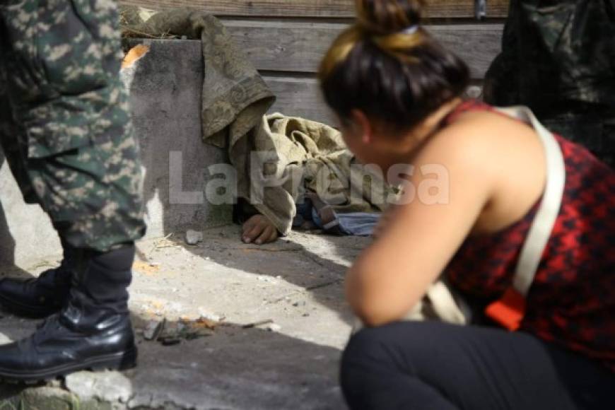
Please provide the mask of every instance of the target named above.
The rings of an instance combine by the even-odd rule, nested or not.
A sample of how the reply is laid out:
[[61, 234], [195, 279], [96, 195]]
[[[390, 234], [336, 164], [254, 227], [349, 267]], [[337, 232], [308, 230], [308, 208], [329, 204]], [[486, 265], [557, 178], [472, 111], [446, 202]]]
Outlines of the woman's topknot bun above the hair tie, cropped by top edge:
[[356, 0], [358, 24], [375, 35], [399, 33], [421, 23], [424, 0]]

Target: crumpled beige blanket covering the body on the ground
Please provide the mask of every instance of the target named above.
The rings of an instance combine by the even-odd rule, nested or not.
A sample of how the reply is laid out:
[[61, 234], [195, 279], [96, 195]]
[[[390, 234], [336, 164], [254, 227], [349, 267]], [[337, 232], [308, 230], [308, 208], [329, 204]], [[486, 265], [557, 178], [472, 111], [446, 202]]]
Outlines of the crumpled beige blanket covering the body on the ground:
[[[274, 186], [261, 189], [261, 196], [255, 188], [266, 184], [254, 172], [252, 177], [240, 172], [239, 194], [250, 198], [283, 234], [291, 230], [295, 204], [305, 190], [316, 192], [338, 212], [383, 211], [393, 194], [377, 172], [356, 162], [339, 131], [303, 118], [263, 117], [257, 128], [236, 142], [230, 159], [239, 170], [248, 170], [252, 161], [256, 174], [262, 170], [265, 176], [275, 176]], [[276, 185], [276, 180], [283, 183]]]

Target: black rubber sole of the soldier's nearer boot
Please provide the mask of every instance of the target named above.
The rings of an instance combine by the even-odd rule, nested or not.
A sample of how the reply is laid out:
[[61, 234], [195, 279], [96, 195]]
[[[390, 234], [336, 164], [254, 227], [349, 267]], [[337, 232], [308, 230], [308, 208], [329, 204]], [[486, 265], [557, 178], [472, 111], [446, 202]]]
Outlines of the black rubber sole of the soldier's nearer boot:
[[81, 363], [71, 363], [47, 370], [39, 370], [37, 372], [16, 372], [14, 370], [0, 369], [0, 379], [5, 382], [21, 382], [30, 385], [39, 382], [47, 382], [57, 377], [64, 377], [81, 370], [128, 370], [136, 366], [136, 356], [137, 351], [135, 347], [121, 353], [95, 356]]

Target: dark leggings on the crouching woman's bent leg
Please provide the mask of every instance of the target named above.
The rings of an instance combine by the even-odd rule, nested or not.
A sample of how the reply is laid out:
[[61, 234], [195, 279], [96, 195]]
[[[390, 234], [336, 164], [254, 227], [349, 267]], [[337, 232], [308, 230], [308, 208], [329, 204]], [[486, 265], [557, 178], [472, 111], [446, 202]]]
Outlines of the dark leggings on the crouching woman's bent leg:
[[615, 409], [615, 375], [523, 332], [399, 322], [353, 336], [341, 363], [351, 409]]

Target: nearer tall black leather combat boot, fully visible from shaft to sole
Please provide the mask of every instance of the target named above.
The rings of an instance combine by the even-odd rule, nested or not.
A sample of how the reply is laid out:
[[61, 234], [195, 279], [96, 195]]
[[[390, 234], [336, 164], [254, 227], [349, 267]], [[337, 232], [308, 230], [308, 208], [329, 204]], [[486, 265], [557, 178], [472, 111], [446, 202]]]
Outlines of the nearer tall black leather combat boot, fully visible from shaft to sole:
[[78, 370], [136, 365], [128, 312], [134, 245], [79, 251], [69, 303], [27, 339], [0, 346], [0, 379], [36, 382]]

